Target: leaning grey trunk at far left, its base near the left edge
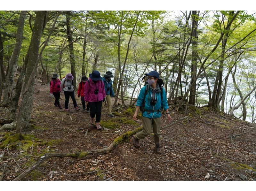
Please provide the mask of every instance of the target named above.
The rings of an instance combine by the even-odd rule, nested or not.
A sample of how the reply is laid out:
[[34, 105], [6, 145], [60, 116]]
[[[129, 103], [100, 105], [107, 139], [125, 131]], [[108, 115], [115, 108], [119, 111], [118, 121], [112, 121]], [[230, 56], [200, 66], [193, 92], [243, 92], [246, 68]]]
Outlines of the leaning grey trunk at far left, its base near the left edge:
[[21, 44], [23, 40], [23, 29], [24, 29], [26, 12], [27, 11], [20, 12], [20, 19], [19, 19], [17, 35], [16, 35], [16, 44], [12, 52], [12, 57], [10, 59], [9, 70], [6, 76], [6, 80], [8, 81], [8, 83], [5, 83], [4, 97], [1, 103], [1, 106], [6, 106], [7, 104], [10, 103], [12, 99], [13, 79], [16, 71], [16, 66], [18, 63], [18, 58], [20, 56], [20, 49], [21, 49]]

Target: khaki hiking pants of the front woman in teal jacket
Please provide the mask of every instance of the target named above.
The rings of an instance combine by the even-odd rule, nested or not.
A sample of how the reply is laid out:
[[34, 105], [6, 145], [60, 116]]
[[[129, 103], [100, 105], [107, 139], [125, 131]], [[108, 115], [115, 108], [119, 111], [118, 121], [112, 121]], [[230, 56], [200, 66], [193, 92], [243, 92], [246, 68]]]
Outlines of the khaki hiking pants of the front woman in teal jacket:
[[137, 139], [143, 139], [150, 135], [152, 128], [154, 133], [154, 140], [156, 144], [160, 144], [160, 129], [161, 129], [161, 117], [159, 118], [145, 118], [142, 116], [143, 130], [135, 134], [134, 137]]

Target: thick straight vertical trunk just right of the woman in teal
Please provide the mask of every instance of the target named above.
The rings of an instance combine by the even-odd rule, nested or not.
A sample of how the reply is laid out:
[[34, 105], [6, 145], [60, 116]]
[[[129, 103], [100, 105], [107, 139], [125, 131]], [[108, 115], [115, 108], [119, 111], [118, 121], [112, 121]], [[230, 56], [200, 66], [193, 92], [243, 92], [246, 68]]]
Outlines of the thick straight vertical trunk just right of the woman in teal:
[[[199, 12], [198, 12], [199, 13]], [[196, 11], [192, 11], [192, 61], [191, 61], [191, 82], [196, 80], [196, 65], [197, 65], [197, 14]], [[191, 87], [189, 94], [188, 104], [195, 105], [196, 99], [196, 82]]]

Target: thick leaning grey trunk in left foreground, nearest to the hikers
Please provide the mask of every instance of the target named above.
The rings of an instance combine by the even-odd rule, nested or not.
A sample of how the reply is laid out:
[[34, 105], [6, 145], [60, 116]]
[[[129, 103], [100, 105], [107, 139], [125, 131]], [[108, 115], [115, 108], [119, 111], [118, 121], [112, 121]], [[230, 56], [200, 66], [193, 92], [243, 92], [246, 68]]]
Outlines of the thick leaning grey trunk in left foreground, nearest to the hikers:
[[[36, 71], [36, 63], [38, 59], [38, 51], [40, 46], [40, 39], [43, 32], [43, 27], [45, 25], [45, 15], [47, 15], [47, 11], [36, 11], [36, 18], [33, 27], [33, 33], [30, 41], [30, 49], [28, 54], [28, 67], [26, 76], [28, 78], [28, 84], [25, 87], [24, 92], [22, 93], [22, 99], [20, 103], [19, 114], [17, 117], [17, 127], [16, 133], [20, 133], [20, 130], [26, 128], [29, 123], [29, 119], [31, 116], [33, 98], [34, 98], [34, 82], [35, 82], [35, 71]], [[30, 69], [33, 68], [31, 71]]]

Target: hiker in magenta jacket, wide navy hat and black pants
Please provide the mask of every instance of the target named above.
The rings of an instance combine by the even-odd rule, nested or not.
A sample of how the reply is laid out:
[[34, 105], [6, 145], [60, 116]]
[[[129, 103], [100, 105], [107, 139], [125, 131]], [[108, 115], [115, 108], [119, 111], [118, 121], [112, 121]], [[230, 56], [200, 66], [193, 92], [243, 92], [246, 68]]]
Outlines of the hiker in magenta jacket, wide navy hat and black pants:
[[97, 70], [90, 73], [89, 77], [89, 80], [84, 84], [84, 101], [86, 104], [89, 104], [91, 124], [94, 124], [94, 117], [96, 114], [96, 127], [100, 130], [102, 101], [106, 102], [104, 83], [102, 81], [102, 77], [100, 76], [100, 72]]

